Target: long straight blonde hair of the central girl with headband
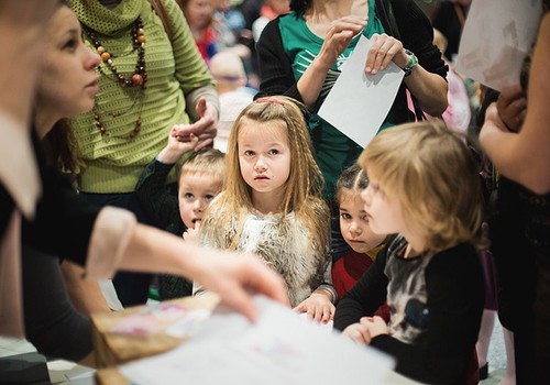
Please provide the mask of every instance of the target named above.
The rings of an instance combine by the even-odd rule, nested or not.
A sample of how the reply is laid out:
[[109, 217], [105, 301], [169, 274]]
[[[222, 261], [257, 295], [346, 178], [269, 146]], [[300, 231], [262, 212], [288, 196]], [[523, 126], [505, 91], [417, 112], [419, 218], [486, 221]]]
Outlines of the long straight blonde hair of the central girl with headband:
[[226, 155], [226, 188], [212, 201], [202, 220], [205, 235], [223, 249], [237, 249], [242, 219], [253, 208], [252, 188], [244, 182], [239, 164], [238, 136], [245, 120], [257, 123], [257, 130], [262, 130], [262, 123], [273, 121], [280, 121], [287, 129], [290, 173], [283, 198], [280, 223], [294, 211], [310, 232], [315, 244], [321, 248], [329, 244], [330, 213], [321, 198], [323, 178], [314, 157], [309, 129], [300, 107], [294, 99], [283, 96], [261, 98], [245, 107], [237, 118]]

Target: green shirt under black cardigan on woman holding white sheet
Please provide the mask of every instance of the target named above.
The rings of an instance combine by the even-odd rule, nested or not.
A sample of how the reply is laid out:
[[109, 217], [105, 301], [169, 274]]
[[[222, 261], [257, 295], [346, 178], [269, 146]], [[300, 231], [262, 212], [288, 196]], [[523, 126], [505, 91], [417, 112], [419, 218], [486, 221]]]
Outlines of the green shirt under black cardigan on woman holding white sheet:
[[[377, 16], [374, 16], [374, 1], [369, 2], [369, 23], [362, 32], [365, 37], [371, 37], [374, 33], [384, 33], [381, 21]], [[285, 52], [293, 62], [294, 77], [296, 81], [298, 81], [314, 58], [319, 54], [323, 40], [314, 34], [307, 26], [304, 18], [295, 12], [280, 18], [279, 30]], [[342, 66], [348, 62], [355, 48], [359, 37], [358, 35], [350, 42], [348, 48], [338, 57], [337, 62], [329, 70], [324, 84], [322, 85], [315, 112], [309, 119], [309, 129], [316, 151], [317, 163], [324, 177], [326, 187], [323, 196], [326, 198], [332, 198], [334, 195], [334, 185], [340, 174], [344, 168], [352, 165], [363, 151], [360, 145], [317, 114], [322, 101], [338, 79]], [[406, 119], [406, 116], [398, 119], [396, 117], [396, 111], [392, 108], [381, 130], [404, 122]]]

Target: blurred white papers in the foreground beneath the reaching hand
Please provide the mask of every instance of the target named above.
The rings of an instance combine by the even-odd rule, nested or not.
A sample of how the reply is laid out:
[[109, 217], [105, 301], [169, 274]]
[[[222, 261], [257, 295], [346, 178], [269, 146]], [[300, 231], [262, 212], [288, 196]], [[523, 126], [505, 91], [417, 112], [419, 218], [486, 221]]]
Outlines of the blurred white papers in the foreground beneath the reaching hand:
[[[119, 367], [132, 384], [383, 384], [394, 360], [254, 297], [256, 323], [216, 310], [180, 346]], [[344, 374], [344, 375], [343, 375]], [[342, 376], [343, 375], [343, 376]]]

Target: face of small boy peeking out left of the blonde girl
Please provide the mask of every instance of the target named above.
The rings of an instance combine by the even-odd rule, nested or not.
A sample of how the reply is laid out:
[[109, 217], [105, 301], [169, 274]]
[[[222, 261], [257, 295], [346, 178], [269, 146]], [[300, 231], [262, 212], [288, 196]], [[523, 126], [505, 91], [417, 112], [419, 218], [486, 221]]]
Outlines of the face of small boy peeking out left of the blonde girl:
[[179, 216], [188, 229], [200, 222], [212, 199], [221, 191], [221, 182], [211, 175], [185, 173], [179, 178]]

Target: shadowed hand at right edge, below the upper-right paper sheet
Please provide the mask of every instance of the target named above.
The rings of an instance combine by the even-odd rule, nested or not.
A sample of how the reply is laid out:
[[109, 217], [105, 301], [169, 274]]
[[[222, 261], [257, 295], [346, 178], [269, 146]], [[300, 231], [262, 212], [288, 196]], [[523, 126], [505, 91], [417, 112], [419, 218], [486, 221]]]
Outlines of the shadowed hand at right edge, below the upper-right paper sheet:
[[496, 101], [496, 108], [508, 130], [519, 132], [527, 114], [527, 98], [521, 86], [504, 88]]

